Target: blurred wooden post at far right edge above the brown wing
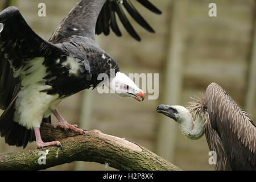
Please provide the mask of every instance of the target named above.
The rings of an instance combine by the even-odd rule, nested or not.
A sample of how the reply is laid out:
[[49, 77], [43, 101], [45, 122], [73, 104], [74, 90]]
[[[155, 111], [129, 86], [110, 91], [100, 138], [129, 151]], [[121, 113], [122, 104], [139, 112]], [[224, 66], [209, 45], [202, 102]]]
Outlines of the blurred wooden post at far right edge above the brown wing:
[[[256, 3], [256, 1], [255, 1]], [[256, 7], [255, 7], [256, 8]], [[254, 21], [256, 20], [256, 16]], [[248, 113], [253, 114], [255, 111], [255, 90], [256, 90], [256, 23], [254, 22], [254, 39], [251, 49], [251, 61], [249, 65], [249, 76], [247, 77], [247, 90], [245, 98], [245, 109]]]

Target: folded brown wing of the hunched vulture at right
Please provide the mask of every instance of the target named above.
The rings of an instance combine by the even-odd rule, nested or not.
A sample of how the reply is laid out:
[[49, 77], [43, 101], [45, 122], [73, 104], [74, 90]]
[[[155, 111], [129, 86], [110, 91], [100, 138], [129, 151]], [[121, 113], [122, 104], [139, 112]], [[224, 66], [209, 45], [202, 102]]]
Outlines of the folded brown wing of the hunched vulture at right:
[[220, 138], [229, 166], [233, 170], [255, 170], [256, 127], [253, 121], [216, 83], [208, 86], [206, 100], [210, 124]]

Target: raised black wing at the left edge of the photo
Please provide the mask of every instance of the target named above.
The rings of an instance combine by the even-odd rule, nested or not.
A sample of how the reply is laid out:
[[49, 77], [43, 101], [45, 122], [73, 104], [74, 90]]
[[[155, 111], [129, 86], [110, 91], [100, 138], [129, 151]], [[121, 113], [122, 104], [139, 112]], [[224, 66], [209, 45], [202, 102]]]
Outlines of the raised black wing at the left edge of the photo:
[[19, 84], [14, 71], [35, 57], [57, 56], [64, 52], [40, 38], [16, 7], [8, 7], [0, 13], [0, 109], [6, 109], [15, 97]]

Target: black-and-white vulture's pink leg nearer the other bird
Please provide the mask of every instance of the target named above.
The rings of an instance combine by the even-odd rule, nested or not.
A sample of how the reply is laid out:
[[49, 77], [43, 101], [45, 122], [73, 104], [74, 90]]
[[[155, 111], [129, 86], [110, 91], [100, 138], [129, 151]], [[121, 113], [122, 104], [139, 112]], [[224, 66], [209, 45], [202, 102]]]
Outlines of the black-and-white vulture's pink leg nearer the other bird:
[[63, 117], [61, 117], [60, 113], [55, 109], [52, 110], [52, 113], [55, 115], [59, 123], [56, 123], [53, 125], [55, 128], [56, 127], [61, 127], [65, 131], [68, 131], [68, 129], [71, 129], [73, 131], [76, 131], [77, 133], [80, 133], [81, 135], [85, 135], [85, 131], [82, 129], [79, 129], [77, 125], [70, 125]]

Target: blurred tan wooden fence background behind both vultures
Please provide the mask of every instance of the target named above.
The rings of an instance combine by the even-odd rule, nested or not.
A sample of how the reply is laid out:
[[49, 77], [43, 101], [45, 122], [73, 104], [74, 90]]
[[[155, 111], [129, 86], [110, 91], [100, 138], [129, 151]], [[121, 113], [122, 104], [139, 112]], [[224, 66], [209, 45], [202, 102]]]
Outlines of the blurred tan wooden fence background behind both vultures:
[[[7, 3], [17, 6], [33, 30], [48, 40], [77, 1], [2, 0], [0, 10]], [[41, 2], [46, 3], [46, 17], [38, 16]], [[139, 143], [184, 170], [213, 170], [205, 137], [185, 138], [172, 119], [155, 110], [159, 104], [186, 106], [190, 97], [217, 82], [255, 121], [255, 1], [151, 0], [162, 15], [131, 2], [156, 34], [146, 32], [129, 17], [142, 42], [132, 39], [120, 23], [122, 38], [112, 33], [97, 36], [97, 42], [118, 61], [122, 72], [159, 73], [159, 98], [137, 102], [89, 89], [65, 99], [59, 111], [69, 123]], [[217, 17], [208, 15], [211, 2], [217, 4]], [[35, 148], [33, 142], [25, 150]], [[15, 151], [23, 149], [10, 147], [0, 138], [0, 152]], [[47, 170], [109, 169], [103, 164], [73, 162]]]

